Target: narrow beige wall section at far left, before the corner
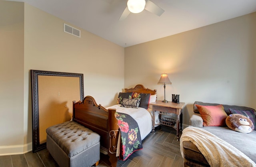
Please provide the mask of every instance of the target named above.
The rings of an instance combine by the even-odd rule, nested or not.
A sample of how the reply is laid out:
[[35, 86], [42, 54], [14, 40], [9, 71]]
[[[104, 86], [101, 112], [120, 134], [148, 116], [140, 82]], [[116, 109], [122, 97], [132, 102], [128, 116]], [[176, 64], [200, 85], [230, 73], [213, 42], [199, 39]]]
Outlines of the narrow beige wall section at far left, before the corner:
[[[0, 155], [1, 146], [24, 144], [24, 4], [0, 1]], [[17, 148], [17, 147], [16, 147]], [[13, 150], [19, 152], [18, 149]], [[23, 149], [23, 148], [22, 148]]]

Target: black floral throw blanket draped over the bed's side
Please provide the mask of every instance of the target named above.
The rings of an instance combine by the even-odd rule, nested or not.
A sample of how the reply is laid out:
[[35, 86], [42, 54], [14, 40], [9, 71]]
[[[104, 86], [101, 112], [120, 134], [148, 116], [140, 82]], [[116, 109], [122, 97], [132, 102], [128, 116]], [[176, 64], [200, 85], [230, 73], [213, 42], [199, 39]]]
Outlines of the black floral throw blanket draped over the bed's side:
[[121, 133], [119, 159], [126, 160], [134, 151], [142, 149], [140, 130], [137, 122], [128, 114], [116, 112], [116, 119]]

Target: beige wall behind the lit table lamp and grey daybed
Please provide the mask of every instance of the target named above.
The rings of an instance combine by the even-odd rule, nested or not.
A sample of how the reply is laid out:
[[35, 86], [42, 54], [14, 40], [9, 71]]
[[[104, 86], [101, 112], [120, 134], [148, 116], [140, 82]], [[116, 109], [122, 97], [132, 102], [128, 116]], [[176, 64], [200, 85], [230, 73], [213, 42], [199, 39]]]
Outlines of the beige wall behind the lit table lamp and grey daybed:
[[136, 83], [157, 89], [167, 73], [166, 100], [180, 94], [183, 123], [194, 101], [256, 108], [256, 13], [125, 48], [125, 87]]

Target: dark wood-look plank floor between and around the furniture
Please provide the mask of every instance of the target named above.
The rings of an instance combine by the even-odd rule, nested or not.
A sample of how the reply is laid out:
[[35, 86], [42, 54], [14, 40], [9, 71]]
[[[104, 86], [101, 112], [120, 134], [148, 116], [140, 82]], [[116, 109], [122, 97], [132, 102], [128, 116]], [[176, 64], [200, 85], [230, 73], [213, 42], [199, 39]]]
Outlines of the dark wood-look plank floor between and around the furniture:
[[[108, 167], [108, 157], [100, 154], [98, 167]], [[162, 127], [161, 131], [149, 134], [143, 140], [143, 149], [134, 152], [126, 161], [118, 161], [118, 167], [182, 167], [180, 141], [176, 131]], [[0, 167], [58, 167], [47, 149], [36, 153], [0, 156]]]

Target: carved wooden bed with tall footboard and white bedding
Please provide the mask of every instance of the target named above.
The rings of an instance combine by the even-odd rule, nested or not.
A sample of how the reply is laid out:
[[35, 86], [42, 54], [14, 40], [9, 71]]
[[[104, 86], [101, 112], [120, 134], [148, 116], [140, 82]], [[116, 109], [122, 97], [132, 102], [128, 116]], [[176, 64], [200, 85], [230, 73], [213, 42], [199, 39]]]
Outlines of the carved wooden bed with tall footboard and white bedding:
[[[156, 97], [156, 90], [145, 88], [142, 84], [137, 84], [134, 88], [125, 88], [124, 93], [150, 94], [151, 98], [152, 96]], [[120, 94], [122, 94], [122, 92], [120, 92]], [[120, 97], [120, 94], [118, 97]], [[120, 100], [120, 98], [118, 98], [118, 100]], [[120, 101], [122, 101], [122, 99]], [[150, 102], [152, 102], [152, 100]], [[82, 102], [73, 102], [73, 121], [82, 124], [100, 135], [101, 152], [108, 154], [112, 167], [116, 167], [118, 153], [122, 147], [120, 145], [119, 136], [121, 132], [115, 114], [116, 112], [129, 114], [129, 111], [127, 111], [129, 108], [120, 107], [123, 103], [124, 102], [119, 102], [119, 104], [105, 108], [97, 104], [92, 96], [86, 96]], [[135, 117], [135, 120], [137, 119], [138, 126], [141, 128], [144, 125], [142, 129], [140, 129], [140, 137], [141, 140], [143, 140], [152, 131], [152, 110], [150, 110], [150, 108], [148, 110], [145, 109], [146, 111], [143, 111], [144, 114], [140, 113], [141, 115], [136, 115], [136, 109], [132, 109], [132, 114], [130, 115]], [[139, 112], [142, 112], [141, 107], [138, 107], [138, 109], [140, 109]], [[144, 120], [144, 123], [141, 120]]]

